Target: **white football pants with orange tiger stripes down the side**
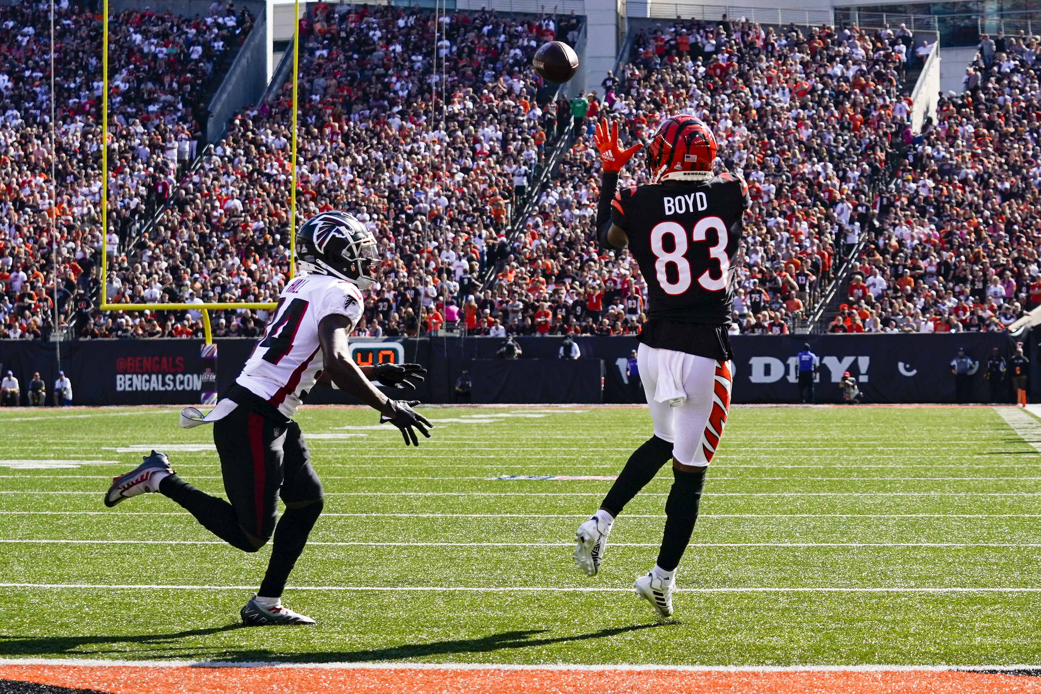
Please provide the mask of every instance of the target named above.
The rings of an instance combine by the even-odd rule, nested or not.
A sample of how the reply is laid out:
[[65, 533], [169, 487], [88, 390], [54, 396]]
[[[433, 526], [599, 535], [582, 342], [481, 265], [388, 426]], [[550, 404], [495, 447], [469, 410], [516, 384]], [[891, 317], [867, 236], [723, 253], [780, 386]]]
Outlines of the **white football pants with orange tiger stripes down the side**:
[[708, 465], [730, 411], [732, 362], [640, 343], [636, 353], [654, 433], [684, 465]]

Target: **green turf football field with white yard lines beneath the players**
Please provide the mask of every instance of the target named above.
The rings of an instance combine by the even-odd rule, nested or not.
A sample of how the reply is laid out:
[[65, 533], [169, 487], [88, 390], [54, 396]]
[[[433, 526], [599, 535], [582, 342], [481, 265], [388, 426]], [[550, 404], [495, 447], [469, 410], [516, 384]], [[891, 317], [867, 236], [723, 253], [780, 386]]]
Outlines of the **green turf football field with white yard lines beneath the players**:
[[319, 624], [297, 628], [238, 625], [270, 545], [226, 546], [159, 494], [102, 505], [153, 446], [222, 490], [209, 428], [178, 410], [0, 411], [0, 658], [1041, 661], [1041, 458], [992, 408], [734, 408], [667, 622], [629, 590], [654, 565], [667, 468], [595, 579], [572, 538], [610, 481], [497, 479], [616, 474], [645, 410], [431, 408], [415, 449], [372, 411], [304, 409], [327, 498], [284, 597]]

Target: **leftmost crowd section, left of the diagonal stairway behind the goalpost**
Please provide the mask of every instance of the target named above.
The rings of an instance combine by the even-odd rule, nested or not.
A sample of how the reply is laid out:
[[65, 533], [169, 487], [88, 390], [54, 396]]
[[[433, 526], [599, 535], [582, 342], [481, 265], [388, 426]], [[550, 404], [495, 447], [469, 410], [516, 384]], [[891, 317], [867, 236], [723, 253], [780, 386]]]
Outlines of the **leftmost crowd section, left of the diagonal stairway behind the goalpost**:
[[[252, 26], [250, 14], [230, 4], [191, 19], [148, 9], [109, 18], [110, 257], [195, 156], [208, 92]], [[87, 323], [105, 324], [90, 310], [102, 245], [102, 22], [81, 4], [57, 5], [53, 104], [50, 32], [49, 3], [0, 5], [0, 333], [7, 338], [49, 333], [55, 301], [64, 320], [78, 314], [84, 336]]]

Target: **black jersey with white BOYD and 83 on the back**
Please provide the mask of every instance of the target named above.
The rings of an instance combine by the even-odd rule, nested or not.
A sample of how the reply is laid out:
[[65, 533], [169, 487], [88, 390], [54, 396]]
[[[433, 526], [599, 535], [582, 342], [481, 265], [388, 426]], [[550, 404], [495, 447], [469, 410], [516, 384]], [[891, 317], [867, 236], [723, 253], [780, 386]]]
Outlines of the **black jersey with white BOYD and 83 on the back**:
[[736, 174], [705, 182], [623, 188], [611, 221], [648, 283], [648, 318], [728, 325], [734, 299], [734, 257], [751, 206]]

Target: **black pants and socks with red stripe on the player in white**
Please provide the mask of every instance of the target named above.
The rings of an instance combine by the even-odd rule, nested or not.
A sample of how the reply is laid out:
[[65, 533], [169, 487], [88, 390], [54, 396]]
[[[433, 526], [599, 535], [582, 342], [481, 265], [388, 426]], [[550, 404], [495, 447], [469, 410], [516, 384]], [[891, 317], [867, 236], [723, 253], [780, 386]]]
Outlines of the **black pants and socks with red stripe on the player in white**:
[[[278, 597], [322, 513], [322, 483], [311, 467], [300, 426], [242, 390], [236, 386], [229, 391], [238, 406], [213, 422], [228, 500], [196, 489], [176, 474], [163, 480], [159, 491], [244, 551], [256, 551], [274, 535], [259, 594]], [[279, 498], [286, 507], [281, 519]]]

